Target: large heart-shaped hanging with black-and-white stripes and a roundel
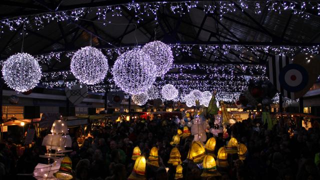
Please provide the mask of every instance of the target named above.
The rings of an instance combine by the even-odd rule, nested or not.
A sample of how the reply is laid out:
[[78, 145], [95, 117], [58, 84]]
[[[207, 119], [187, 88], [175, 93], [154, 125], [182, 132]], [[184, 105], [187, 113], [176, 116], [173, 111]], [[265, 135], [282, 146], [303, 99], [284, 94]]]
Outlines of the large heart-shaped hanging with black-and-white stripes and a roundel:
[[294, 59], [285, 55], [272, 55], [268, 59], [269, 81], [290, 99], [303, 96], [315, 82], [320, 66], [318, 55], [298, 54]]

